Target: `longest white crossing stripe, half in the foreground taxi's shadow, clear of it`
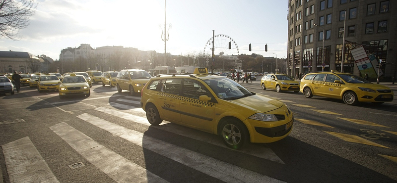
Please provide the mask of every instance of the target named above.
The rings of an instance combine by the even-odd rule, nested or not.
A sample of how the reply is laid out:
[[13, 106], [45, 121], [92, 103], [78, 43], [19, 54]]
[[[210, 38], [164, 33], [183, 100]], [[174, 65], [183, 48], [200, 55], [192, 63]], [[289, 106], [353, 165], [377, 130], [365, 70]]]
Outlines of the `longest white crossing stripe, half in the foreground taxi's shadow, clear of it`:
[[142, 133], [127, 129], [87, 113], [77, 117], [113, 135], [124, 138], [136, 145], [227, 183], [281, 182], [265, 175], [202, 155], [195, 151], [153, 137], [144, 136]]

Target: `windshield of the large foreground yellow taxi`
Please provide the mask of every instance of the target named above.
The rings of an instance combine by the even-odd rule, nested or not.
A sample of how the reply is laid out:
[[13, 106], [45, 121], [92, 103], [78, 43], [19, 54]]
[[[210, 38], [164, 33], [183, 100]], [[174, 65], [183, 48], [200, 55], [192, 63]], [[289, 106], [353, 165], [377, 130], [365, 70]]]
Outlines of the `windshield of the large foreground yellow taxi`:
[[255, 94], [228, 78], [214, 78], [204, 82], [215, 92], [218, 98], [224, 100], [235, 100]]

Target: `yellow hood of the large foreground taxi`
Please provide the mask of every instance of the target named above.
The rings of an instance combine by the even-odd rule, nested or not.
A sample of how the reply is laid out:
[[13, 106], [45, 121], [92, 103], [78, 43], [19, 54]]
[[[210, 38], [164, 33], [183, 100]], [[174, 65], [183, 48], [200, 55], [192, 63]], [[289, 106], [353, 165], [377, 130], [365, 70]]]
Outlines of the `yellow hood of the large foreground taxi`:
[[283, 102], [274, 98], [269, 98], [262, 94], [255, 94], [248, 97], [228, 101], [256, 112], [268, 112], [274, 109], [278, 109], [284, 105]]

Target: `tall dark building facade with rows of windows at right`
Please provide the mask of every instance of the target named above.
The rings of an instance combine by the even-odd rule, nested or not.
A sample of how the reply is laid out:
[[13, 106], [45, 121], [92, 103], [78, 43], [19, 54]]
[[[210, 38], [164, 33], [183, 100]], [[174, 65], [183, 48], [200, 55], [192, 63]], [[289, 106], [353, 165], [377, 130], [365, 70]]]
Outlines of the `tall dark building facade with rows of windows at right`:
[[289, 75], [337, 70], [359, 76], [350, 50], [362, 45], [382, 62], [394, 63], [381, 69], [384, 77], [395, 77], [397, 1], [289, 0], [288, 5]]

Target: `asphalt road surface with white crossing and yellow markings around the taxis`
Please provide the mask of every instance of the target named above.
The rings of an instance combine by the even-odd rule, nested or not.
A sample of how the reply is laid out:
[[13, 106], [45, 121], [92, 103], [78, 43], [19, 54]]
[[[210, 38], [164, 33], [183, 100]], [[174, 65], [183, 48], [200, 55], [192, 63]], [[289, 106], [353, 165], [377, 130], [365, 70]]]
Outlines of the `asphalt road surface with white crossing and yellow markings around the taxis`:
[[232, 150], [211, 134], [168, 122], [150, 126], [140, 96], [101, 84], [89, 97], [60, 99], [29, 87], [1, 95], [3, 182], [397, 181], [396, 100], [348, 106], [263, 91], [260, 81], [242, 85], [289, 106], [295, 122], [288, 137]]

